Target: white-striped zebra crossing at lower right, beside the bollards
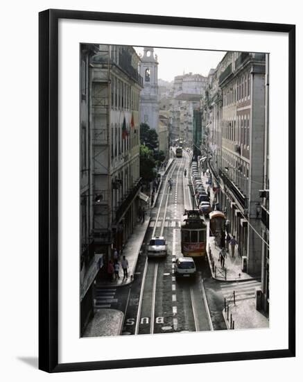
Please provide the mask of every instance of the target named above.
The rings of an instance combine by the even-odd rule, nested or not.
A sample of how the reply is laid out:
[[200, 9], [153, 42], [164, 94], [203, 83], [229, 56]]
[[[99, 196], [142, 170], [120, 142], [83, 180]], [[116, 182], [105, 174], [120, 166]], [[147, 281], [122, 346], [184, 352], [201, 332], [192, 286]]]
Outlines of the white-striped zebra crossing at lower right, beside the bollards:
[[261, 282], [257, 280], [240, 281], [234, 283], [220, 282], [221, 292], [227, 301], [233, 301], [235, 292], [236, 301], [256, 298], [256, 290], [261, 288]]

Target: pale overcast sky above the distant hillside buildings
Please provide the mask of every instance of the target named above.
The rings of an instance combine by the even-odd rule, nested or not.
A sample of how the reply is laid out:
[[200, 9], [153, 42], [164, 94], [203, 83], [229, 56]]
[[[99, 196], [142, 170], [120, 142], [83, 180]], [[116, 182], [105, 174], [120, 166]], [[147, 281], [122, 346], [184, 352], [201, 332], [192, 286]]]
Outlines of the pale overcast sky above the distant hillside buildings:
[[[135, 47], [137, 53], [143, 54], [143, 48]], [[191, 49], [155, 48], [157, 54], [158, 78], [173, 81], [175, 76], [192, 72], [207, 76], [211, 68], [216, 68], [225, 55], [225, 51], [197, 51]]]

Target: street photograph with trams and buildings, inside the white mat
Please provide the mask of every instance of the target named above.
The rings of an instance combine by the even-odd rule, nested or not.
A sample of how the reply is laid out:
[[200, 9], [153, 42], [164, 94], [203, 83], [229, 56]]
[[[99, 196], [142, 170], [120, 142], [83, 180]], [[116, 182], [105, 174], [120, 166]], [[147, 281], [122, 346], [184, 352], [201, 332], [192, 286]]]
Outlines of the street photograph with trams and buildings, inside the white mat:
[[269, 328], [268, 60], [80, 44], [81, 337]]

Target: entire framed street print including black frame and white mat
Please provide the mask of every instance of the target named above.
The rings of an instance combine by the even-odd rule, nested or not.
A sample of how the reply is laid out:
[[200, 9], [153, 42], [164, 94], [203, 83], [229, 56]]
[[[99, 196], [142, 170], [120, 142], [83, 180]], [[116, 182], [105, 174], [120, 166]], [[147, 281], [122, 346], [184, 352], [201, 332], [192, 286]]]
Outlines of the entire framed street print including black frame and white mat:
[[40, 369], [295, 356], [295, 26], [39, 33]]

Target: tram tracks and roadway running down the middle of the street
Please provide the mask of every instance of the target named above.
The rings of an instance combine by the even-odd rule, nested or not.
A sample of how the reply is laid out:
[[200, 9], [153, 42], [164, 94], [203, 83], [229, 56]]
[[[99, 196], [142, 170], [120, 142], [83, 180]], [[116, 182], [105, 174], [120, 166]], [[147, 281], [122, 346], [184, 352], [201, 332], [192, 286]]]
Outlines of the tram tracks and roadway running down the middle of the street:
[[[183, 176], [186, 162], [187, 161], [182, 158], [180, 162], [177, 161], [174, 163], [171, 171], [168, 172], [166, 176], [155, 218], [155, 226], [153, 226], [153, 237], [155, 235], [163, 235], [168, 210], [171, 212], [171, 219], [176, 219], [176, 215], [174, 215], [178, 208], [175, 208], [176, 204], [177, 206], [178, 204], [180, 205], [182, 200], [184, 202], [185, 198], [187, 198], [187, 192], [185, 192], [184, 188], [185, 178]], [[180, 171], [182, 173], [181, 179]], [[175, 172], [174, 187], [172, 190], [169, 190], [167, 180]], [[182, 181], [183, 187], [180, 181]], [[178, 190], [182, 190], [183, 197]], [[171, 196], [173, 196], [173, 201], [170, 204], [169, 200]], [[182, 198], [181, 200], [180, 197]], [[189, 203], [190, 202], [191, 198], [189, 197]], [[180, 208], [178, 212], [181, 212]], [[162, 220], [162, 224], [158, 226], [160, 220]], [[203, 293], [202, 290], [201, 272], [199, 272], [200, 279], [199, 281], [198, 279], [195, 281], [195, 285], [183, 283], [183, 285], [179, 285], [178, 287], [178, 283], [175, 282], [172, 260], [173, 257], [175, 257], [174, 254], [180, 256], [180, 241], [176, 238], [178, 231], [178, 229], [173, 229], [167, 232], [167, 237], [173, 234], [171, 242], [172, 248], [175, 248], [175, 252], [169, 254], [170, 256], [166, 256], [165, 260], [148, 259], [146, 256], [134, 334], [209, 330], [210, 325], [207, 322], [208, 306], [205, 292]], [[159, 275], [162, 277], [160, 278]], [[169, 290], [171, 290], [170, 293]]]

